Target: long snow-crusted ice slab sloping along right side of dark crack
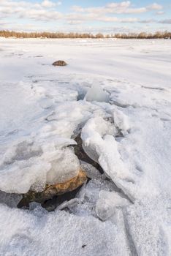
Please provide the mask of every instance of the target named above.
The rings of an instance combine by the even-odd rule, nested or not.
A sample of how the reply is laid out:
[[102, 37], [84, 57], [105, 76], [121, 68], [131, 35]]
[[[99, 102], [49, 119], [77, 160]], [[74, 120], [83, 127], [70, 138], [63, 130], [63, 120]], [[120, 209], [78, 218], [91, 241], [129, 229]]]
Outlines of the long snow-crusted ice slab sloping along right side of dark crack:
[[107, 135], [106, 121], [91, 118], [81, 132], [83, 146], [89, 157], [99, 162], [107, 176], [128, 178], [130, 173], [124, 165], [118, 151], [118, 142], [112, 135]]

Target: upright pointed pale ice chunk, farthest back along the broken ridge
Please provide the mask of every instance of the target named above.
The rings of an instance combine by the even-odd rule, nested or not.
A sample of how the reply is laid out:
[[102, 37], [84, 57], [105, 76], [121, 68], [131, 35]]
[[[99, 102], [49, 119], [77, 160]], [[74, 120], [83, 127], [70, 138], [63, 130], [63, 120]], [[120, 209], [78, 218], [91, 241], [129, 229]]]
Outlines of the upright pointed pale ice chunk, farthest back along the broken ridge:
[[91, 88], [88, 89], [85, 98], [88, 102], [109, 102], [110, 99], [109, 94], [97, 84], [93, 84]]

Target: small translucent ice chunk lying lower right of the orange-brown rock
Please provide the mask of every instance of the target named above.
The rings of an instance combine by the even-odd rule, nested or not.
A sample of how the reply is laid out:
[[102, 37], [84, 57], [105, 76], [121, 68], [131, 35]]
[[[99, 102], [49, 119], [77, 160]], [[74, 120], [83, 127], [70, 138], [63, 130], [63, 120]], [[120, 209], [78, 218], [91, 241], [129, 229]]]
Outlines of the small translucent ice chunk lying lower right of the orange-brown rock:
[[115, 208], [129, 206], [129, 201], [121, 197], [117, 192], [100, 191], [99, 200], [96, 203], [96, 215], [106, 220], [113, 216]]

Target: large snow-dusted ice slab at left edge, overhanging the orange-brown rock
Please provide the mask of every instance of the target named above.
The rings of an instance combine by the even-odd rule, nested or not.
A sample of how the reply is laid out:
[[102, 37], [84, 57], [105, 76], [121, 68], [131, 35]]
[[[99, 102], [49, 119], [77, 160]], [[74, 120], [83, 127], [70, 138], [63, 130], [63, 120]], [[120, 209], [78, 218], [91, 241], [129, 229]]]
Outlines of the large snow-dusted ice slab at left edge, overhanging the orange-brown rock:
[[58, 148], [54, 141], [38, 146], [31, 140], [9, 148], [1, 161], [0, 189], [12, 193], [26, 193], [30, 188], [42, 191], [47, 183], [77, 176], [80, 162], [72, 149], [60, 147], [60, 142], [64, 145], [63, 140], [58, 140]]

